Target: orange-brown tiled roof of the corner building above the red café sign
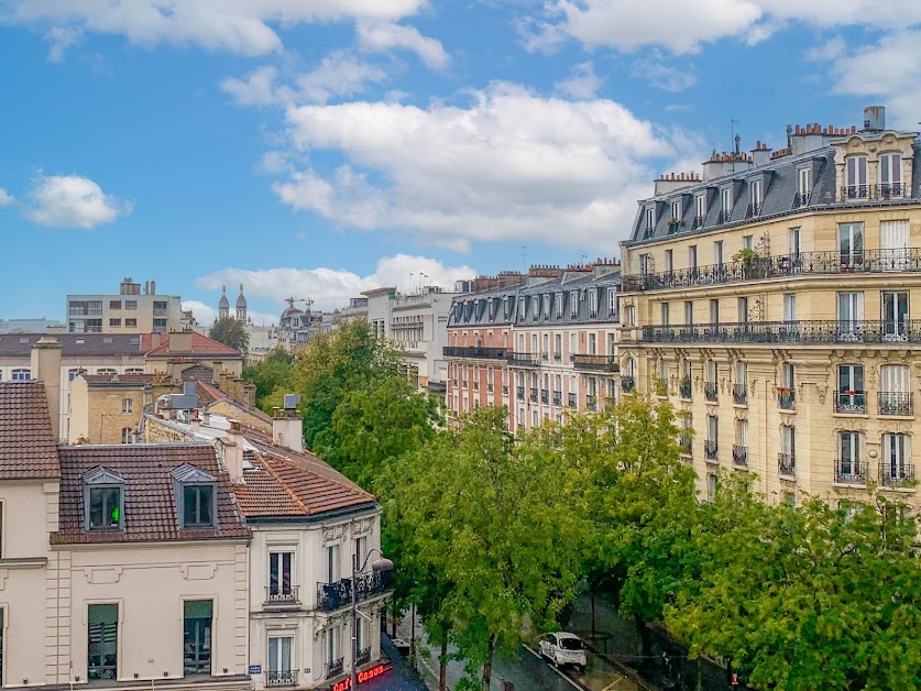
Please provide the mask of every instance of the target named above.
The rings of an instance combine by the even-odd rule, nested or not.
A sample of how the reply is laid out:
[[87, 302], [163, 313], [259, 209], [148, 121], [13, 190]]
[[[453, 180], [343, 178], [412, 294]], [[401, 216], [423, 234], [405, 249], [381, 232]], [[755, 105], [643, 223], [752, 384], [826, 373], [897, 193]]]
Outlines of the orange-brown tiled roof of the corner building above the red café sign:
[[297, 453], [246, 435], [251, 468], [233, 485], [246, 518], [313, 517], [331, 511], [372, 505], [373, 494], [332, 470], [313, 453]]

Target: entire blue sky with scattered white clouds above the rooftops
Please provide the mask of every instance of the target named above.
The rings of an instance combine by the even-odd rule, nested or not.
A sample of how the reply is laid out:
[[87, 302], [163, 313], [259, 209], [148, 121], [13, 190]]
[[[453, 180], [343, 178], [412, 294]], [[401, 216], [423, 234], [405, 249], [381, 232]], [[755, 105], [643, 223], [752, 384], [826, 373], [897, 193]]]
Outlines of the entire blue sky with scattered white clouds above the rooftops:
[[915, 128], [919, 84], [918, 0], [0, 0], [0, 317], [617, 255], [732, 119]]

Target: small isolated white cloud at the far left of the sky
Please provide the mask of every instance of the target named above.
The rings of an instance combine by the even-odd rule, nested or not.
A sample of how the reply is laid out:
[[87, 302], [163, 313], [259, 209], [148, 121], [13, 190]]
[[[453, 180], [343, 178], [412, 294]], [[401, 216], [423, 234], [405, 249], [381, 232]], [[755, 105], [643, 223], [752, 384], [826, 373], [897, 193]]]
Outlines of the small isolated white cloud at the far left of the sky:
[[90, 229], [131, 213], [133, 205], [107, 195], [81, 175], [41, 176], [29, 193], [26, 218], [41, 226]]

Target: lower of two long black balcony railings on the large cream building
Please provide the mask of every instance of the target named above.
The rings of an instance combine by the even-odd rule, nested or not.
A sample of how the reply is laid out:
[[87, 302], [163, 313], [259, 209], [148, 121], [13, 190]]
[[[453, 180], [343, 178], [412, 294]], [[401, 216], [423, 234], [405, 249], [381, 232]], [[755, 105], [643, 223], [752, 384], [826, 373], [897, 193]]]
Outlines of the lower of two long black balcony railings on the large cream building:
[[921, 320], [746, 321], [644, 327], [651, 343], [921, 343]]

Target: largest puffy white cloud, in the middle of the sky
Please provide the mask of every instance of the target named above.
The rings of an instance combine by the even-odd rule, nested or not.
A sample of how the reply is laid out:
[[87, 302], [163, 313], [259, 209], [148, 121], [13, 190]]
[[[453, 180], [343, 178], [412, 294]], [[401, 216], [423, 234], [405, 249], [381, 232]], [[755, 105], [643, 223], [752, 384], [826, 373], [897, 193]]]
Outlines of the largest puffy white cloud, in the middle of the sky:
[[613, 252], [650, 191], [650, 158], [679, 153], [611, 100], [541, 98], [508, 84], [470, 97], [468, 107], [289, 107], [295, 151], [336, 151], [346, 163], [331, 176], [293, 173], [275, 193], [343, 226], [458, 250], [537, 238]]

